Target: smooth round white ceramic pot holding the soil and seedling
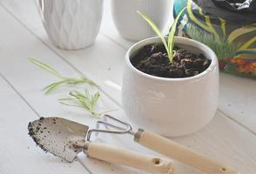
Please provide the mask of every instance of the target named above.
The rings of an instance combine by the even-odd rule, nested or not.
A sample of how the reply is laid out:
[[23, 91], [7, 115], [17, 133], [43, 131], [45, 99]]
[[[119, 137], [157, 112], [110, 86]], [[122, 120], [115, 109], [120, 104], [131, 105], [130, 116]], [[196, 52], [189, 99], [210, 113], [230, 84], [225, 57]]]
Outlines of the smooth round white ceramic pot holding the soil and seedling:
[[215, 53], [203, 43], [176, 37], [175, 44], [203, 53], [212, 59], [209, 68], [197, 76], [184, 78], [154, 77], [137, 70], [131, 55], [158, 37], [131, 46], [125, 57], [122, 103], [127, 117], [138, 126], [165, 137], [179, 137], [199, 131], [214, 116], [219, 98], [219, 66]]

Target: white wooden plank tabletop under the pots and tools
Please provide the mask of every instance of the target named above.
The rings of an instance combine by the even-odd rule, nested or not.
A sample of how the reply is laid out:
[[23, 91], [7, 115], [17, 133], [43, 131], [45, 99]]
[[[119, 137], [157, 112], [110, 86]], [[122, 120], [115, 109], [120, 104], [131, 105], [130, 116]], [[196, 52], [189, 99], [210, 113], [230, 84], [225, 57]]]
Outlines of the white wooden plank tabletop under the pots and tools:
[[[84, 110], [58, 104], [66, 89], [44, 96], [42, 88], [55, 82], [44, 70], [29, 64], [35, 57], [72, 77], [77, 72], [100, 84], [103, 109], [116, 109], [113, 116], [127, 120], [120, 106], [120, 93], [111, 83], [121, 84], [125, 51], [131, 46], [118, 36], [105, 0], [104, 18], [97, 41], [88, 49], [58, 50], [46, 36], [35, 1], [0, 0], [0, 173], [56, 174], [142, 173], [111, 165], [79, 154], [68, 164], [45, 154], [27, 135], [27, 124], [43, 116], [62, 116], [95, 126], [96, 119]], [[174, 141], [205, 153], [238, 169], [256, 173], [256, 81], [220, 74], [219, 110], [212, 123], [191, 136]], [[153, 153], [132, 143], [131, 137], [102, 136], [100, 141], [122, 145], [136, 151]], [[200, 173], [175, 162], [179, 174]]]

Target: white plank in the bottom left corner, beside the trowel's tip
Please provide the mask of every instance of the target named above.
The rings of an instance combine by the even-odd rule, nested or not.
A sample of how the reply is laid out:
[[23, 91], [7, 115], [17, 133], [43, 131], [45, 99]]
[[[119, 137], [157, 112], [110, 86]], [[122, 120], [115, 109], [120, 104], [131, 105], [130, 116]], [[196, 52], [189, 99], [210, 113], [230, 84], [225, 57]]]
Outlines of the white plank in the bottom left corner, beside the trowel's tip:
[[0, 77], [0, 173], [88, 173], [77, 160], [72, 164], [45, 154], [28, 136], [27, 125], [37, 115]]

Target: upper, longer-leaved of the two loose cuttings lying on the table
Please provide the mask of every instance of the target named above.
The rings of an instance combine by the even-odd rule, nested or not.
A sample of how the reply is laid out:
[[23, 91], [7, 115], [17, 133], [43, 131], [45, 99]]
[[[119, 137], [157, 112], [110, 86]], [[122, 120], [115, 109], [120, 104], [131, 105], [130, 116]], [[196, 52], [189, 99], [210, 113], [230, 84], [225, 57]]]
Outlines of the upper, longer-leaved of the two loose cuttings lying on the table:
[[60, 75], [57, 70], [54, 70], [49, 66], [48, 64], [44, 64], [34, 58], [30, 58], [29, 62], [32, 64], [37, 65], [37, 67], [47, 70], [49, 73], [51, 73], [53, 76], [59, 78], [60, 80], [57, 83], [49, 84], [46, 86], [43, 90], [45, 91], [45, 94], [51, 93], [51, 91], [56, 90], [60, 85], [63, 84], [91, 84], [92, 86], [97, 86], [91, 79], [81, 76], [81, 77], [63, 77]]

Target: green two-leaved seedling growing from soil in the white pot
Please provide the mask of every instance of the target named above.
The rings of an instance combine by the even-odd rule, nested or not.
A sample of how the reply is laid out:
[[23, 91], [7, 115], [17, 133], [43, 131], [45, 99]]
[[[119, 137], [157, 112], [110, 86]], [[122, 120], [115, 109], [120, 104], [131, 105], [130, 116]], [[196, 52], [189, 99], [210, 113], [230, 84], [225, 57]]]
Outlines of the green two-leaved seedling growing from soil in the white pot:
[[138, 14], [141, 17], [143, 17], [145, 19], [145, 21], [152, 27], [152, 30], [154, 30], [154, 32], [158, 35], [158, 37], [160, 37], [162, 43], [165, 45], [165, 50], [168, 54], [170, 63], [172, 63], [173, 57], [175, 57], [175, 50], [173, 50], [173, 47], [174, 47], [174, 35], [175, 35], [176, 28], [177, 28], [177, 23], [179, 21], [179, 17], [182, 15], [182, 13], [185, 9], [186, 8], [182, 9], [179, 12], [178, 16], [175, 18], [174, 22], [172, 23], [172, 28], [169, 32], [167, 42], [166, 42], [166, 39], [163, 36], [161, 30], [156, 25], [156, 23], [154, 23], [150, 17], [146, 16], [145, 14], [141, 13], [140, 11], [137, 11]]

